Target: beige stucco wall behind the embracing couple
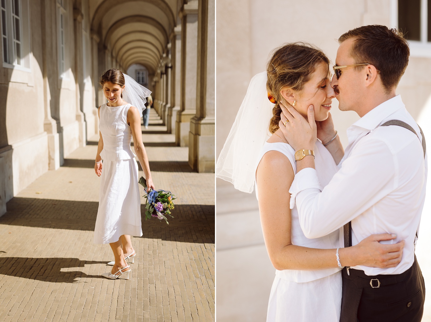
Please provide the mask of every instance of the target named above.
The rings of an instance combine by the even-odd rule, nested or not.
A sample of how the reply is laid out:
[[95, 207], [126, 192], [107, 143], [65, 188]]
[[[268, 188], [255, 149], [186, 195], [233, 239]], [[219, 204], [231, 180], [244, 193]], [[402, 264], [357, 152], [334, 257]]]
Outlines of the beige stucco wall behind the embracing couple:
[[[216, 157], [228, 136], [251, 77], [265, 70], [271, 50], [285, 42], [306, 41], [319, 46], [334, 63], [338, 48], [336, 39], [344, 32], [368, 24], [394, 27], [390, 25], [393, 22], [391, 10], [394, 3], [396, 1], [392, 0], [218, 0]], [[430, 58], [410, 57], [409, 66], [397, 90], [425, 135], [430, 133], [428, 136], [431, 135], [431, 127], [428, 126], [431, 118], [430, 72]], [[339, 111], [336, 99], [331, 114], [341, 141], [346, 146], [346, 130], [359, 117], [351, 111]], [[228, 197], [231, 195], [236, 198]], [[266, 316], [275, 269], [266, 252], [262, 251], [265, 246], [260, 225], [256, 224], [259, 220], [257, 204], [254, 203], [254, 212], [249, 211], [244, 215], [244, 211], [241, 211], [250, 209], [250, 203], [255, 202], [251, 200], [234, 191], [229, 183], [222, 183], [218, 179], [217, 321], [262, 321]], [[423, 217], [431, 209], [429, 203], [427, 201], [425, 205]], [[219, 214], [220, 209], [223, 210], [222, 214]], [[422, 222], [421, 229], [426, 232], [431, 222]], [[426, 245], [426, 236], [422, 236], [422, 245]], [[242, 241], [239, 245], [238, 240]], [[229, 245], [236, 246], [232, 248]], [[427, 267], [431, 271], [431, 262], [428, 261], [430, 263], [427, 266], [427, 248], [422, 246], [420, 249], [422, 253], [418, 253], [418, 258], [420, 263], [422, 258], [425, 275]], [[430, 310], [426, 309], [424, 316], [428, 316], [428, 312]]]

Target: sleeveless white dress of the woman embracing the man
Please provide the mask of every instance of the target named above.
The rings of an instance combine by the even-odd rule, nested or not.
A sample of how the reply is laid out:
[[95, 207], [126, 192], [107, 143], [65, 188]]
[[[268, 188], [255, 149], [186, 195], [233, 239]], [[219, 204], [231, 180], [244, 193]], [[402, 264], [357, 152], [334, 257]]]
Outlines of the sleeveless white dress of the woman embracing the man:
[[[283, 153], [292, 164], [296, 174], [295, 150], [287, 143], [265, 142], [259, 162], [269, 151]], [[317, 141], [314, 147], [315, 168], [322, 186], [326, 186], [338, 167], [329, 151]], [[259, 164], [259, 163], [258, 163]], [[257, 167], [257, 165], [256, 165]], [[258, 195], [257, 185], [256, 196]], [[342, 229], [321, 238], [306, 238], [300, 227], [296, 205], [291, 209], [291, 241], [293, 245], [331, 249], [343, 247]], [[334, 253], [335, 258], [335, 253]], [[331, 268], [315, 271], [276, 270], [269, 296], [267, 322], [337, 322], [341, 310], [341, 269]]]

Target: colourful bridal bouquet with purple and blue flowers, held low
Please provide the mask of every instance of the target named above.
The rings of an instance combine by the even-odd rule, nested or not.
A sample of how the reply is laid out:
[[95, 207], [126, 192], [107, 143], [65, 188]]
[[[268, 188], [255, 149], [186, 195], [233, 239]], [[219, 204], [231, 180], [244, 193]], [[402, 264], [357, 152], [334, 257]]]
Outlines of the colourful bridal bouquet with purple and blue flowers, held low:
[[[143, 176], [139, 179], [138, 183], [144, 186], [145, 192], [147, 192], [147, 180]], [[146, 195], [143, 196], [147, 199], [145, 204], [145, 220], [151, 219], [151, 217], [156, 217], [160, 220], [166, 220], [169, 225], [166, 215], [174, 217], [171, 215], [171, 210], [174, 209], [174, 203], [172, 200], [176, 199], [170, 191], [165, 190], [150, 190]]]

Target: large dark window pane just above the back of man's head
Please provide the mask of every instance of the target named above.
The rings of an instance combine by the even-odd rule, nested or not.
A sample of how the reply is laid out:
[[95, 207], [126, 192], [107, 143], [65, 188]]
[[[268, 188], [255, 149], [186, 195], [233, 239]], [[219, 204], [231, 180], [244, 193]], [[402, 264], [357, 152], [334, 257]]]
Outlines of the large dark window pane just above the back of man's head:
[[421, 0], [398, 0], [398, 26], [408, 40], [421, 40]]

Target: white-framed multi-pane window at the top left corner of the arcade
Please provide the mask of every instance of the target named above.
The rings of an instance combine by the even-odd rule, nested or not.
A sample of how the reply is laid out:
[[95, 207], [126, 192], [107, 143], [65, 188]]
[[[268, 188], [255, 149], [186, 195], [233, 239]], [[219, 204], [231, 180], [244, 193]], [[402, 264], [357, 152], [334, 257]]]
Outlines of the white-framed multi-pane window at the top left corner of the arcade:
[[24, 65], [20, 0], [1, 0], [1, 26], [3, 62], [11, 65]]

